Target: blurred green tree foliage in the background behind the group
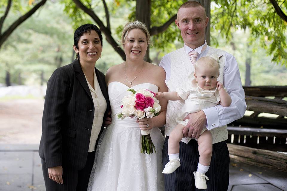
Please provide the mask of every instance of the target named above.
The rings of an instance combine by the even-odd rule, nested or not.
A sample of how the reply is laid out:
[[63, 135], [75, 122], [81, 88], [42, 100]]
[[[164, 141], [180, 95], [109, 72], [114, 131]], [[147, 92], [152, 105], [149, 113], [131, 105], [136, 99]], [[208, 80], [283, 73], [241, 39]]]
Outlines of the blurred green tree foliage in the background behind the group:
[[[102, 0], [82, 2], [106, 25]], [[184, 0], [152, 1], [151, 27], [164, 24], [176, 14], [182, 2]], [[286, 13], [287, 1], [278, 2]], [[136, 1], [107, 0], [106, 3], [112, 36], [120, 41], [124, 24], [135, 19]], [[6, 4], [7, 0], [0, 0], [0, 17]], [[13, 0], [2, 32], [30, 8], [27, 0]], [[40, 84], [42, 74], [45, 83], [57, 67], [69, 64], [75, 58], [72, 49], [74, 30], [85, 23], [95, 24], [72, 0], [48, 0], [16, 28], [1, 47], [0, 83], [5, 84], [7, 71], [13, 84]], [[251, 57], [251, 85], [287, 84], [286, 28], [286, 22], [274, 13], [267, 0], [216, 0], [211, 3], [211, 45], [235, 56], [243, 84], [248, 56]], [[182, 47], [180, 32], [174, 23], [151, 40], [150, 57], [157, 64], [164, 54]], [[107, 68], [120, 62], [121, 57], [104, 37], [102, 58], [96, 67], [105, 73]]]

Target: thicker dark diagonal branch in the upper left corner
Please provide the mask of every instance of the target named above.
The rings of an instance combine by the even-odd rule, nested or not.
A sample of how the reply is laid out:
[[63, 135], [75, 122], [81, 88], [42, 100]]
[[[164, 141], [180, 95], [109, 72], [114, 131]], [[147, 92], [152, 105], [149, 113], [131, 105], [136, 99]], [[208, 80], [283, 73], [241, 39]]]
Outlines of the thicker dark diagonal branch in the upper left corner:
[[36, 12], [36, 10], [39, 9], [43, 4], [45, 4], [47, 0], [42, 0], [38, 4], [36, 4], [30, 11], [28, 11], [25, 15], [19, 17], [13, 24], [10, 25], [10, 27], [3, 33], [3, 35], [0, 37], [0, 48], [4, 41], [11, 35], [11, 33], [20, 25], [22, 24], [26, 19], [28, 19], [33, 13]]

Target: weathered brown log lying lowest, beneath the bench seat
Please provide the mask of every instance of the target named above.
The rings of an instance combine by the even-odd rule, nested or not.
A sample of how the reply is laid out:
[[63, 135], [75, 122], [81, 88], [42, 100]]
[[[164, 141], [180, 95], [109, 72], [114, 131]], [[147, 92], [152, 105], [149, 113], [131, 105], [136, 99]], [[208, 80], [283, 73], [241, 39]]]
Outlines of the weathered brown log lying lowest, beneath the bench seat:
[[233, 161], [287, 172], [286, 154], [230, 143], [228, 143], [227, 146], [230, 159]]

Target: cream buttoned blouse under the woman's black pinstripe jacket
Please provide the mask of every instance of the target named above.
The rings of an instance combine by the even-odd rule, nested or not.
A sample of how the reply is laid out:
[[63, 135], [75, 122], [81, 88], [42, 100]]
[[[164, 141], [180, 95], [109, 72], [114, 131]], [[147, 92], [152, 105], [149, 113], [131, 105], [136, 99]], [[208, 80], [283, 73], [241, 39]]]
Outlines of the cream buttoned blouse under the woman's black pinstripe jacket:
[[94, 108], [95, 108], [94, 120], [93, 120], [93, 125], [92, 125], [92, 130], [91, 130], [90, 145], [89, 145], [89, 150], [88, 150], [88, 152], [90, 153], [95, 150], [96, 141], [97, 141], [97, 138], [99, 136], [99, 133], [101, 131], [101, 127], [103, 124], [103, 117], [104, 117], [104, 114], [107, 108], [107, 102], [101, 91], [95, 70], [94, 70], [94, 88], [95, 89], [93, 89], [93, 87], [90, 85], [87, 78], [86, 78], [86, 81], [91, 91], [91, 96], [93, 98]]

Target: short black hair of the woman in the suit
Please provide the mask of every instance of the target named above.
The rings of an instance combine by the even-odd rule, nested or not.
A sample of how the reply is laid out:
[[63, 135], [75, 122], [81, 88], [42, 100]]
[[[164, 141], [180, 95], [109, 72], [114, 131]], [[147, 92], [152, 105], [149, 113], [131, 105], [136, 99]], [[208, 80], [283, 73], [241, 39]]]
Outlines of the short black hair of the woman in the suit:
[[78, 27], [74, 33], [74, 45], [77, 49], [79, 49], [78, 42], [79, 42], [81, 36], [83, 36], [86, 33], [91, 33], [91, 30], [96, 31], [96, 33], [99, 35], [101, 45], [103, 47], [102, 31], [94, 24], [84, 24], [84, 25]]

